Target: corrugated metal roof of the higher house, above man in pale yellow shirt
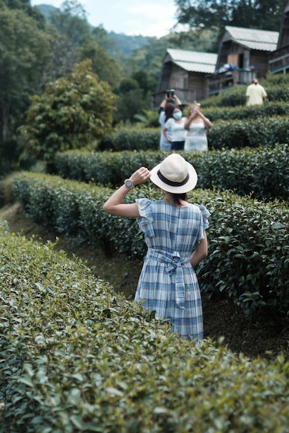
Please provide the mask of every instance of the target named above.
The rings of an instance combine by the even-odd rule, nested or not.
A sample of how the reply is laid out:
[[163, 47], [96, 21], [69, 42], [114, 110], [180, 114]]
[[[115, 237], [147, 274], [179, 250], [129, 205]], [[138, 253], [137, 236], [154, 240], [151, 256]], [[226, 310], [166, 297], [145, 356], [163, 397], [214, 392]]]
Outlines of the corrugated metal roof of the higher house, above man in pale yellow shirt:
[[225, 30], [234, 42], [253, 50], [274, 51], [277, 48], [279, 32], [232, 26], [226, 26]]

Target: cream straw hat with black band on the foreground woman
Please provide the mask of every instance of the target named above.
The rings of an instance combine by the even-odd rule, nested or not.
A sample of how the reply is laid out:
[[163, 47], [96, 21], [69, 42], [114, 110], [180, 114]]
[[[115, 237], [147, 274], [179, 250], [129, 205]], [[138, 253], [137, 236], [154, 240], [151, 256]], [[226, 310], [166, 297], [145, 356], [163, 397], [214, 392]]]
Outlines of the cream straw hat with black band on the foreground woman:
[[198, 175], [183, 156], [171, 154], [151, 170], [151, 182], [172, 194], [194, 190]]

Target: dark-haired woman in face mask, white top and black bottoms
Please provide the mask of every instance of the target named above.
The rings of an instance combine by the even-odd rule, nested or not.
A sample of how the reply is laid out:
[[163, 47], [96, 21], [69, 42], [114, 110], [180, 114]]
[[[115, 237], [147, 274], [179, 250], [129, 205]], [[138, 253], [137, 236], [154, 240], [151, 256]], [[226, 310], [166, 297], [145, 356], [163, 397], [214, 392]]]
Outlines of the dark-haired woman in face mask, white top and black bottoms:
[[[179, 107], [175, 107], [173, 117], [165, 122], [165, 127], [162, 129], [165, 138], [171, 142], [171, 150], [183, 150], [187, 131], [185, 129], [185, 120], [182, 111]], [[169, 137], [171, 131], [171, 138]]]

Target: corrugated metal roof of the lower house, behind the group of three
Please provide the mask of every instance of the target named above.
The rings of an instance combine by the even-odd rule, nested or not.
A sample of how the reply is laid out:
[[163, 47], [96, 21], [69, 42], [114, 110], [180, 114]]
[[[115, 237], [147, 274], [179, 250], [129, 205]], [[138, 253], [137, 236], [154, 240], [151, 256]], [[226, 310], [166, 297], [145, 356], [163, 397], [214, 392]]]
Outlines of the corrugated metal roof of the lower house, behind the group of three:
[[216, 68], [217, 54], [203, 53], [200, 51], [167, 49], [167, 54], [174, 64], [189, 72], [214, 73]]

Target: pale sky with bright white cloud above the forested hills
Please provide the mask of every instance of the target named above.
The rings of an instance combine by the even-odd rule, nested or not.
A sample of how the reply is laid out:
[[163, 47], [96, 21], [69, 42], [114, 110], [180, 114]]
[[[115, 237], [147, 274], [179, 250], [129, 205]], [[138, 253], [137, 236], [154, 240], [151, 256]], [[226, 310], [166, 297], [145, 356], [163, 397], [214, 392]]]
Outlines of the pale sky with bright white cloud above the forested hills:
[[[176, 24], [174, 0], [78, 0], [87, 12], [88, 23], [125, 35], [162, 37]], [[31, 0], [32, 6], [59, 8], [62, 0]]]

